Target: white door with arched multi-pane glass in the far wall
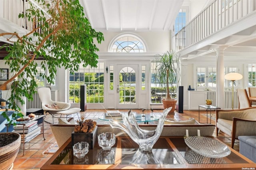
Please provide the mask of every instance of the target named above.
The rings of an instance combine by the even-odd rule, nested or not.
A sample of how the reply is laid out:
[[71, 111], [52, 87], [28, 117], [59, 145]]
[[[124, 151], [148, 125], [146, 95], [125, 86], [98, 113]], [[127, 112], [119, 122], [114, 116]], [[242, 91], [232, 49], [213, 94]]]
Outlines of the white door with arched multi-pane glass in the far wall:
[[118, 64], [116, 71], [117, 109], [138, 109], [138, 65]]

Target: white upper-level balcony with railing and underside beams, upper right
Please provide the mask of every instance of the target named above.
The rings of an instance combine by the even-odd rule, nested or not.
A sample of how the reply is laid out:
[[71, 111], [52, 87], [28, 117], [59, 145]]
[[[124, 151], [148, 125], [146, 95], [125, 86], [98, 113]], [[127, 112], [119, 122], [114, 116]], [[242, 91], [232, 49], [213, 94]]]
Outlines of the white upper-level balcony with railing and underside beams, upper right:
[[256, 0], [215, 0], [172, 39], [184, 59], [216, 56], [221, 46], [225, 56], [255, 56]]

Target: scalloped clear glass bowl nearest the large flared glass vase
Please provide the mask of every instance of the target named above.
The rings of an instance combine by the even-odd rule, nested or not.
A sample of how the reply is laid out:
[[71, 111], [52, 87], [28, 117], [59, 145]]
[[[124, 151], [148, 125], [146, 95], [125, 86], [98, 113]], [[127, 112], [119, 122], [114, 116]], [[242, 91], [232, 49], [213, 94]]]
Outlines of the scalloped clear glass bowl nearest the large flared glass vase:
[[116, 135], [111, 132], [106, 132], [98, 135], [98, 144], [102, 150], [110, 150], [116, 143]]

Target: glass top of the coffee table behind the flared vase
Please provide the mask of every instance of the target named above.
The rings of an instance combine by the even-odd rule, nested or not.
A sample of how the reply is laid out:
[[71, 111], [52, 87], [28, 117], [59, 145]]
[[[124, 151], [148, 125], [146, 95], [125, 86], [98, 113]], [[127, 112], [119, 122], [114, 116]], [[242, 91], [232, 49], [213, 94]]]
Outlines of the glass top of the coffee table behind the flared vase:
[[[103, 121], [109, 121], [110, 119], [114, 119], [116, 121], [120, 121], [122, 122], [122, 115], [125, 115], [128, 117], [128, 113], [120, 113], [120, 115], [108, 115], [107, 113], [104, 113], [102, 116], [99, 117], [100, 120]], [[151, 121], [157, 121], [159, 118], [156, 117], [156, 115], [152, 115], [152, 114], [141, 114], [141, 113], [135, 113], [134, 114], [135, 119], [137, 122], [151, 122]]]

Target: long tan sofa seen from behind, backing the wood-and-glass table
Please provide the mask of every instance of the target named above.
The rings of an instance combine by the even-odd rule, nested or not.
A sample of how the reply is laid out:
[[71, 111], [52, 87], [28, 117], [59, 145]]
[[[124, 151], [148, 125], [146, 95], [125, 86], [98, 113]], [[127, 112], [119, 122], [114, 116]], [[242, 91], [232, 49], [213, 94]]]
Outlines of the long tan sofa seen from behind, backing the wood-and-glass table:
[[[68, 121], [59, 118], [59, 124], [52, 124], [50, 128], [52, 129], [52, 133], [56, 139], [58, 146], [62, 146], [68, 138], [71, 137], [71, 133], [74, 131], [74, 118], [68, 119]], [[193, 122], [191, 124], [187, 124], [188, 122]], [[170, 122], [169, 122], [170, 123]], [[97, 135], [103, 132], [113, 132], [116, 136], [126, 136], [127, 134], [119, 128], [112, 128], [110, 125], [98, 125]], [[139, 125], [141, 128], [145, 130], [154, 130], [157, 125]], [[196, 136], [197, 130], [200, 130], [201, 136], [212, 136], [215, 125], [210, 124], [200, 124], [196, 120], [188, 120], [188, 121], [172, 121], [172, 123], [165, 123], [164, 128], [162, 130], [161, 136], [185, 136], [186, 129], [188, 129], [190, 136]]]

